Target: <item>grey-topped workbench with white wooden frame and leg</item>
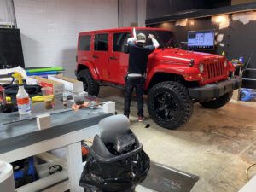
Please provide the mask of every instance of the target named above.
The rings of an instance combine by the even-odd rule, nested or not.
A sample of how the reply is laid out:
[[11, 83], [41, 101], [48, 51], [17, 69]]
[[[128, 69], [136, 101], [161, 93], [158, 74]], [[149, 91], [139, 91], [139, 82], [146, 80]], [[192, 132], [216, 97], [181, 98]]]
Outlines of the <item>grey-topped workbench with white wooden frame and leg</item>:
[[[84, 189], [79, 187], [79, 178], [83, 171], [81, 141], [98, 134], [98, 122], [113, 115], [113, 112], [106, 111], [105, 106], [79, 111], [51, 111], [52, 127], [44, 130], [38, 130], [34, 116], [19, 120], [18, 113], [0, 113], [0, 160], [11, 163], [65, 147], [68, 188], [71, 192], [84, 192]], [[67, 186], [62, 189], [66, 190]], [[61, 187], [55, 191], [61, 191]]]

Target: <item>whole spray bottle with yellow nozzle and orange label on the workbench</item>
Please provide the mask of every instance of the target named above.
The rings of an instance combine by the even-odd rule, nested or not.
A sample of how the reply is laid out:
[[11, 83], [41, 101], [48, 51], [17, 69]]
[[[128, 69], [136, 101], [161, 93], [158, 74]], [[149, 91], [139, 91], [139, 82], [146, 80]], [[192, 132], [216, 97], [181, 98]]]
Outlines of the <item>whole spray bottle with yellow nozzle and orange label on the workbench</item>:
[[22, 76], [18, 72], [11, 73], [11, 76], [15, 79], [18, 79], [18, 82], [19, 82], [19, 90], [16, 95], [19, 114], [20, 115], [30, 114], [31, 107], [30, 107], [29, 95], [27, 94], [24, 88], [24, 85], [22, 82]]

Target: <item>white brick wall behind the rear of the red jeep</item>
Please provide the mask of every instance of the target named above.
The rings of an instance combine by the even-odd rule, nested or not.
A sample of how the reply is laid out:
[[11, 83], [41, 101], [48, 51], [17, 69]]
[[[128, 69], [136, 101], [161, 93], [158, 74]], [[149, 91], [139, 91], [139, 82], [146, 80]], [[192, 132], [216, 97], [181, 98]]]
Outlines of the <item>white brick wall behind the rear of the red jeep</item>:
[[118, 27], [117, 0], [14, 0], [26, 67], [74, 76], [78, 33]]

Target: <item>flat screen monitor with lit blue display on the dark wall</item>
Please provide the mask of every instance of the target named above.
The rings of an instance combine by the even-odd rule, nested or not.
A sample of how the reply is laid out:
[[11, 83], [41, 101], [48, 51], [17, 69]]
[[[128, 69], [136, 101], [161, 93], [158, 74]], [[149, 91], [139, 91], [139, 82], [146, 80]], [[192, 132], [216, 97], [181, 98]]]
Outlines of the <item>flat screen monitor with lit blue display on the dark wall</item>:
[[188, 49], [214, 49], [214, 30], [189, 31]]

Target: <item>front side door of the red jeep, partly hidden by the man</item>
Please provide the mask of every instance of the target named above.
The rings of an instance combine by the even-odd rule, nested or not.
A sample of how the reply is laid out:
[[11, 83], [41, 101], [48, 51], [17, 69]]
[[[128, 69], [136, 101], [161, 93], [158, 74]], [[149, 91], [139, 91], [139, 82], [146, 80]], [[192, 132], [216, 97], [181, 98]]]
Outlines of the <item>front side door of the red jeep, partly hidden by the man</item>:
[[128, 68], [129, 54], [125, 54], [127, 39], [131, 32], [112, 32], [112, 46], [109, 52], [108, 79], [116, 84], [125, 84], [125, 75]]

